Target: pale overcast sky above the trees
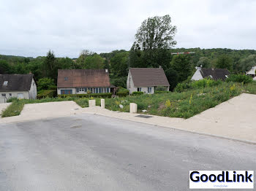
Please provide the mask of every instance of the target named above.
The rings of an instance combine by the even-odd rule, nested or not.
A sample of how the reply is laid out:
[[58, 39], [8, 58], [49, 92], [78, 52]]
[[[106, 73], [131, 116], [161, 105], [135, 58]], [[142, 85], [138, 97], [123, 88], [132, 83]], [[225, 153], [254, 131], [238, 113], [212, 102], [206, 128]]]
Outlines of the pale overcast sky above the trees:
[[0, 54], [129, 50], [143, 20], [163, 15], [176, 47], [256, 50], [255, 10], [256, 0], [0, 0]]

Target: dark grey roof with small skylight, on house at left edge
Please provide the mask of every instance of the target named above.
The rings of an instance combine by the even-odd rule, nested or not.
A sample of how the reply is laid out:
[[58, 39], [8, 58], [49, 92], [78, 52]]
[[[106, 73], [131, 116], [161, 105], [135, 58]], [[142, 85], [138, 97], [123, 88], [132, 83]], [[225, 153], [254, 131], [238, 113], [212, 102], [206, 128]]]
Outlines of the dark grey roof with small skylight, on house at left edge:
[[0, 74], [0, 92], [29, 91], [33, 77], [33, 74]]

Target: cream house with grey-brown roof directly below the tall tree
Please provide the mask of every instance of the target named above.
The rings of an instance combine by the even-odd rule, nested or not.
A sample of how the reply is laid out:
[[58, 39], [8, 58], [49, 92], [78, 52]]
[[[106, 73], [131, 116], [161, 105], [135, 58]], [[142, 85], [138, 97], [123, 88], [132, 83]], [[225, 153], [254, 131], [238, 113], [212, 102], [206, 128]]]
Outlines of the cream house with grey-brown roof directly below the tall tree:
[[130, 68], [127, 77], [127, 89], [129, 93], [143, 92], [154, 93], [157, 86], [165, 87], [169, 90], [169, 82], [165, 76], [165, 71], [159, 67], [151, 68]]

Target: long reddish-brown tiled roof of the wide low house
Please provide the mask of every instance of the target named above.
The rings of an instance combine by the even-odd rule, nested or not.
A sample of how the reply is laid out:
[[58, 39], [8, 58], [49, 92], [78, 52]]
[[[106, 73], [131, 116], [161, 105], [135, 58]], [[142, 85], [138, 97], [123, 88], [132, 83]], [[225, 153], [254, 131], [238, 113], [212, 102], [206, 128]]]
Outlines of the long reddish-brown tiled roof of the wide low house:
[[57, 87], [110, 87], [109, 73], [105, 69], [59, 69]]

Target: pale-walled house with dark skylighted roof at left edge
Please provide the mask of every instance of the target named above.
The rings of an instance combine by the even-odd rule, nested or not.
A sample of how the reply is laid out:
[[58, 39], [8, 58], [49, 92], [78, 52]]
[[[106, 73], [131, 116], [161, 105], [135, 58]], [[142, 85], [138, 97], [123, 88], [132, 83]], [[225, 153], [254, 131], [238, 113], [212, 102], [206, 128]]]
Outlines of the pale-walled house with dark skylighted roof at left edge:
[[14, 97], [37, 98], [37, 83], [33, 74], [0, 74], [0, 104]]

